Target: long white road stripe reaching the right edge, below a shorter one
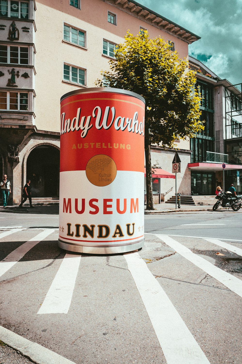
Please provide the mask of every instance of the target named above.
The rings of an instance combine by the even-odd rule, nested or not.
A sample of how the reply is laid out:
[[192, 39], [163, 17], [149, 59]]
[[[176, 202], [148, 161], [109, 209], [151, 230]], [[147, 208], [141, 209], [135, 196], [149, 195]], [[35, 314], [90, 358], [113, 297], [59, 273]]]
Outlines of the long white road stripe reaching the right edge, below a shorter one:
[[221, 282], [231, 291], [238, 294], [238, 296], [242, 297], [242, 281], [240, 279], [216, 267], [215, 265], [208, 262], [206, 259], [198, 256], [197, 254], [194, 254], [190, 249], [186, 248], [184, 245], [180, 244], [171, 237], [162, 234], [154, 235], [157, 236], [160, 240], [164, 241], [165, 244], [167, 244], [170, 248], [174, 249], [182, 257], [186, 258], [198, 268], [201, 268], [202, 270], [204, 270], [204, 272], [208, 273], [211, 277], [217, 279], [217, 281]]

